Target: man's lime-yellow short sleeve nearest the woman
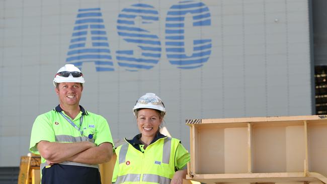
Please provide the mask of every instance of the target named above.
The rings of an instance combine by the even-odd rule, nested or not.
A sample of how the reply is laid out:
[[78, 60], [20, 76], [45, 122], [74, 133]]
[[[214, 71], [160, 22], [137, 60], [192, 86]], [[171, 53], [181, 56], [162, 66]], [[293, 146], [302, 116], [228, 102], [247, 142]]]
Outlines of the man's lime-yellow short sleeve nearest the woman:
[[104, 117], [99, 116], [98, 122], [95, 144], [99, 146], [104, 142], [109, 142], [114, 147], [114, 141], [107, 120]]

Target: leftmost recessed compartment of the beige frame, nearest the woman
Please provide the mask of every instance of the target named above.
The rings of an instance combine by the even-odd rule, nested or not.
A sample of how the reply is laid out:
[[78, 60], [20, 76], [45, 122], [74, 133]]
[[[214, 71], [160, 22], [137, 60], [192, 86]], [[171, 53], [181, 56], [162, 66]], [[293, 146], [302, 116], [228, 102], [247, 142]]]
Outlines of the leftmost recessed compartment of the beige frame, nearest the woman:
[[[198, 127], [196, 173], [239, 173], [248, 169], [247, 124]], [[191, 146], [193, 147], [193, 145]]]

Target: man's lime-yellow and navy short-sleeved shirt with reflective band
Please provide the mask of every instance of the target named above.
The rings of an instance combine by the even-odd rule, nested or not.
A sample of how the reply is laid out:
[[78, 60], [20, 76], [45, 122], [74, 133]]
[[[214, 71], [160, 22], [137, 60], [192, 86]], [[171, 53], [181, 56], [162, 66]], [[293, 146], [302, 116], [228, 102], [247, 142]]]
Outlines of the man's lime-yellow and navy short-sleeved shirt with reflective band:
[[[113, 139], [107, 120], [100, 115], [86, 111], [82, 106], [79, 107], [80, 112], [73, 120], [63, 112], [59, 105], [55, 107], [54, 110], [39, 115], [33, 124], [30, 151], [35, 154], [40, 154], [37, 149], [37, 144], [40, 141], [61, 143], [90, 141], [96, 145], [109, 142], [113, 145]], [[69, 118], [75, 126], [79, 127], [80, 131], [76, 130], [60, 112]], [[82, 116], [83, 121], [81, 122]], [[78, 183], [85, 183], [89, 178], [93, 180], [87, 183], [96, 183], [95, 179], [97, 177], [98, 180], [100, 180], [98, 165], [65, 161], [50, 167], [46, 163], [46, 160], [41, 157], [40, 169], [43, 180], [49, 178], [57, 180], [57, 182], [52, 180], [51, 183], [62, 183], [62, 180], [69, 183], [66, 178], [74, 179], [76, 182], [81, 181]]]

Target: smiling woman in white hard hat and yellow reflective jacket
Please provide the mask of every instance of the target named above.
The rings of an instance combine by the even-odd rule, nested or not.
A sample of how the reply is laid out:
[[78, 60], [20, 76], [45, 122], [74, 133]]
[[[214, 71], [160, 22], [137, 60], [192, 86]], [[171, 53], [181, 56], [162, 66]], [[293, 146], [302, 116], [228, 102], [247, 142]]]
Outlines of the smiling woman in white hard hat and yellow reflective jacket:
[[133, 108], [140, 134], [117, 147], [113, 182], [183, 183], [190, 154], [181, 141], [160, 134], [165, 106], [155, 94], [142, 96]]

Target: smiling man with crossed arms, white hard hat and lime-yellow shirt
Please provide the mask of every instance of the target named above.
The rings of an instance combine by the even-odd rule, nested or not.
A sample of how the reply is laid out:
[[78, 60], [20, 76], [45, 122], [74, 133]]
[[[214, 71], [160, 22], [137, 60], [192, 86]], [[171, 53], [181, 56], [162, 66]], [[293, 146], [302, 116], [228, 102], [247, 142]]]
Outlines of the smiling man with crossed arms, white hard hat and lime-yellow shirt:
[[30, 151], [41, 155], [41, 183], [101, 183], [98, 164], [111, 159], [113, 140], [106, 119], [79, 105], [84, 82], [74, 65], [61, 67], [53, 80], [60, 104], [33, 124]]

